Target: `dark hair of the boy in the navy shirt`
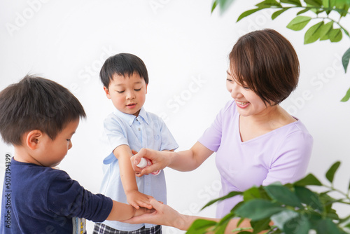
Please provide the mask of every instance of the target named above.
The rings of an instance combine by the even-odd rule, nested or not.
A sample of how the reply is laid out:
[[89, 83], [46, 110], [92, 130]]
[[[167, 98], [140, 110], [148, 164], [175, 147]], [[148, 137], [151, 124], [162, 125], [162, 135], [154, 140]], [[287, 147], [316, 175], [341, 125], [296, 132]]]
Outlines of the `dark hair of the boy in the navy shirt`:
[[68, 89], [46, 78], [27, 75], [0, 92], [0, 134], [7, 144], [22, 145], [22, 136], [31, 130], [53, 140], [69, 122], [85, 116]]

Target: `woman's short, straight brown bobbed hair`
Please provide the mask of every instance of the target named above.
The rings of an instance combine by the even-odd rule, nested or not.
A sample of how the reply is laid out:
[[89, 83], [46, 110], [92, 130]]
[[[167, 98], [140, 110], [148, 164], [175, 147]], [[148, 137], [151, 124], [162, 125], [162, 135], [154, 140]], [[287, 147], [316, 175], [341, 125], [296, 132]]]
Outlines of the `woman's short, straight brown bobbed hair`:
[[273, 29], [241, 36], [229, 57], [232, 76], [265, 103], [279, 104], [297, 87], [297, 54], [290, 42]]

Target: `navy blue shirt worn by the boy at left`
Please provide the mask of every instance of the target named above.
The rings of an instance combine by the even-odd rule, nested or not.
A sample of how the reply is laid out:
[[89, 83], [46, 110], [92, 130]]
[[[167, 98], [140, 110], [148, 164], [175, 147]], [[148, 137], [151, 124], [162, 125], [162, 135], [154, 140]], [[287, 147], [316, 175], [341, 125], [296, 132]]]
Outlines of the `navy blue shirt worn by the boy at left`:
[[13, 158], [7, 168], [1, 234], [86, 233], [85, 219], [102, 222], [113, 207], [111, 198], [90, 193], [62, 170]]

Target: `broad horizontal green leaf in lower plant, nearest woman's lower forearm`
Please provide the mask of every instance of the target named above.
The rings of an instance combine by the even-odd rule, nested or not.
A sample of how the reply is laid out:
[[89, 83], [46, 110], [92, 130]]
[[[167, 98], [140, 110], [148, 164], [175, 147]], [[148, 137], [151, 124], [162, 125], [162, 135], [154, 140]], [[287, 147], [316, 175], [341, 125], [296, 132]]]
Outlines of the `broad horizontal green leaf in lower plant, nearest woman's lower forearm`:
[[269, 200], [254, 199], [245, 202], [237, 210], [236, 214], [241, 217], [252, 219], [253, 221], [265, 219], [272, 214], [276, 214], [286, 208], [272, 203]]

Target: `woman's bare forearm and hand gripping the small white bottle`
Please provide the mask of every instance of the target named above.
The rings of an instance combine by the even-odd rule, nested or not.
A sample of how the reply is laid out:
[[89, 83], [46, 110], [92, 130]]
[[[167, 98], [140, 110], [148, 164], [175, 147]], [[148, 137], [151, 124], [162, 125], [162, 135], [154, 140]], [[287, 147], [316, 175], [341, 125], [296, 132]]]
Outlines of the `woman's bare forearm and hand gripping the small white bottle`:
[[[137, 172], [137, 176], [141, 177], [144, 174], [150, 174], [157, 170], [162, 170], [165, 167], [171, 167], [174, 170], [182, 172], [188, 172], [195, 170], [199, 167], [213, 151], [207, 149], [207, 147], [195, 143], [191, 149], [180, 152], [169, 152], [169, 151], [155, 151], [152, 149], [141, 149], [139, 153], [132, 156], [132, 167]], [[146, 167], [141, 170], [136, 165], [140, 162], [141, 158], [148, 158], [152, 160], [153, 165]]]

